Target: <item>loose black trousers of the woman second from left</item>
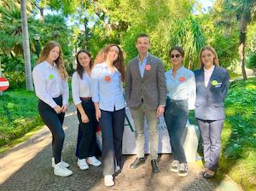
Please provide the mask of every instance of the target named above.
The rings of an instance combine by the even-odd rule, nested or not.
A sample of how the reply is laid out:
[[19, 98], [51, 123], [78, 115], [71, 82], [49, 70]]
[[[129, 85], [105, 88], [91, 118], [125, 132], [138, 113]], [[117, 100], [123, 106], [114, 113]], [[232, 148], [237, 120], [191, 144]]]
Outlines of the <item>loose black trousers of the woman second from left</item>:
[[96, 155], [96, 128], [98, 125], [94, 103], [91, 99], [83, 100], [82, 107], [90, 121], [88, 123], [83, 123], [81, 114], [79, 113], [79, 110], [77, 110], [79, 118], [79, 132], [81, 133], [80, 141], [78, 140], [79, 159], [85, 159]]

